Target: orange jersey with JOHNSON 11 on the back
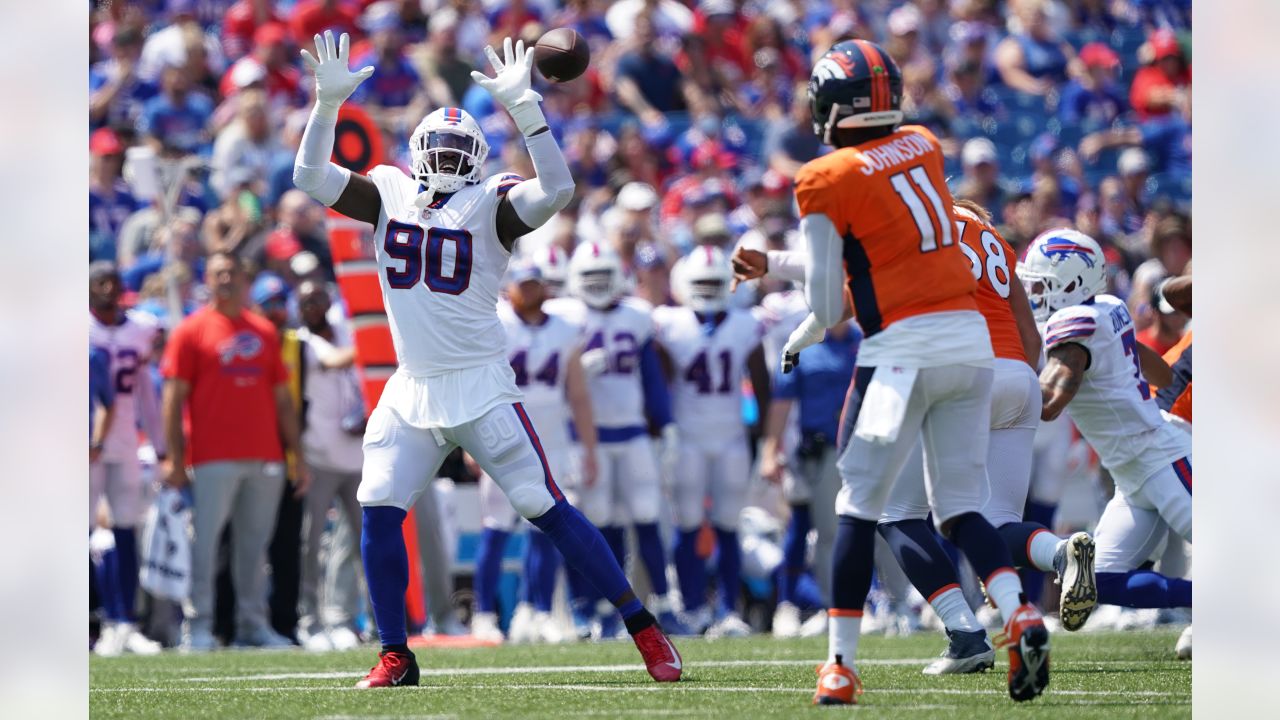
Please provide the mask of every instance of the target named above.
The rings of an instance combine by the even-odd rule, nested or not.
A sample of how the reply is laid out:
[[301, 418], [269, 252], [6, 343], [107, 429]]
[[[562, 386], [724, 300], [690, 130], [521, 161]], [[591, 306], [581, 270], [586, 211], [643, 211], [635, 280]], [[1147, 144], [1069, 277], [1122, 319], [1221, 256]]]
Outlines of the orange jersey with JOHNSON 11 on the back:
[[810, 160], [796, 174], [800, 217], [822, 213], [844, 236], [854, 314], [872, 337], [913, 315], [977, 310], [977, 282], [956, 236], [942, 150], [904, 126]]

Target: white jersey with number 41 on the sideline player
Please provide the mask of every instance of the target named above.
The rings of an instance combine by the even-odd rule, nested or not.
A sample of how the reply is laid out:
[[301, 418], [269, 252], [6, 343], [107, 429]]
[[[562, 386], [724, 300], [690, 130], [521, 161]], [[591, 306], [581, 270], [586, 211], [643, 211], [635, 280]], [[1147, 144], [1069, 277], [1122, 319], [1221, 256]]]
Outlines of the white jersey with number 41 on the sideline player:
[[704, 323], [689, 307], [658, 307], [653, 320], [675, 370], [672, 411], [681, 436], [742, 436], [742, 375], [764, 337], [762, 316], [735, 307]]

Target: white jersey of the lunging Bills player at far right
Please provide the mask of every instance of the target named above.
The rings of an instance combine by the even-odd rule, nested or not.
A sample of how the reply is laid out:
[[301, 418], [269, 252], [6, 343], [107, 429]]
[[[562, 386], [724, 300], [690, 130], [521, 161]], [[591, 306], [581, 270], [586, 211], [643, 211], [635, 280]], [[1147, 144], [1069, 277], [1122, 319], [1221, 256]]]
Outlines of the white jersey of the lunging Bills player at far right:
[[[1137, 489], [1155, 468], [1190, 452], [1189, 442], [1188, 447], [1170, 446], [1164, 432], [1153, 432], [1183, 434], [1165, 428], [1160, 407], [1149, 397], [1133, 319], [1120, 299], [1098, 295], [1088, 305], [1053, 313], [1044, 325], [1044, 351], [1071, 342], [1089, 352], [1089, 365], [1066, 411], [1120, 489]], [[1135, 462], [1142, 468], [1134, 468]]]

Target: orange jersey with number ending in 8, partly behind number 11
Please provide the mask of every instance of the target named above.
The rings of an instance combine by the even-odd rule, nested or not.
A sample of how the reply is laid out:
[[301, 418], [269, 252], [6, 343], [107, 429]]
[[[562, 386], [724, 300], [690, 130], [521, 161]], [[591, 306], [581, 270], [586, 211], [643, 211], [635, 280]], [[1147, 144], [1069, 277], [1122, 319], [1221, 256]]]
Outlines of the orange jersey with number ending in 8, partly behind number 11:
[[1012, 272], [1018, 263], [1014, 249], [1005, 242], [996, 228], [969, 210], [955, 208], [955, 213], [960, 250], [969, 258], [973, 277], [978, 279], [975, 299], [978, 310], [987, 320], [991, 350], [996, 357], [1027, 363], [1023, 336], [1018, 333], [1018, 320], [1014, 319], [1014, 310], [1009, 306], [1011, 283], [1018, 282]]

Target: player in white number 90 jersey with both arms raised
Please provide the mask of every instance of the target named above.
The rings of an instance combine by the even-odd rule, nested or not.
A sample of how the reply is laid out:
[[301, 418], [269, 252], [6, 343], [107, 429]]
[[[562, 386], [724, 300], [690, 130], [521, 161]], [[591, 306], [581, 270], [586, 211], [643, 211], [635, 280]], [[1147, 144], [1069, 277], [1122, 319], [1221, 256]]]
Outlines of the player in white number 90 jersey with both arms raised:
[[498, 291], [517, 237], [545, 223], [573, 195], [573, 178], [530, 88], [532, 49], [485, 49], [497, 77], [472, 78], [504, 106], [525, 138], [535, 179], [483, 177], [489, 143], [457, 108], [422, 119], [410, 137], [412, 168], [379, 165], [369, 176], [329, 163], [338, 109], [365, 78], [348, 68], [349, 40], [316, 36], [303, 50], [315, 73], [316, 104], [307, 120], [293, 182], [349, 218], [374, 225], [383, 304], [399, 368], [388, 380], [365, 433], [357, 498], [364, 507], [361, 551], [383, 650], [357, 687], [417, 684], [406, 644], [408, 559], [401, 525], [444, 457], [467, 451], [511, 500], [547, 533], [566, 562], [599, 588], [659, 682], [678, 680], [681, 660], [627, 583], [604, 538], [556, 484], [543, 443], [507, 363]]

